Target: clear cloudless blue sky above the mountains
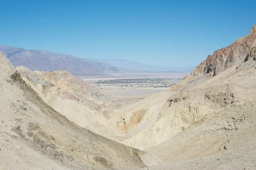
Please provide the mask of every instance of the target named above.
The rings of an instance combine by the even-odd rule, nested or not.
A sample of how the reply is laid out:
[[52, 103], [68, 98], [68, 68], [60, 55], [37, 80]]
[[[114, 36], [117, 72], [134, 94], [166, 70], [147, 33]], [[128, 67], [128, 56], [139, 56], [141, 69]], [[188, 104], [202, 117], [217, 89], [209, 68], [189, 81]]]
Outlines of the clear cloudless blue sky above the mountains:
[[196, 66], [249, 33], [256, 1], [1, 1], [1, 45]]

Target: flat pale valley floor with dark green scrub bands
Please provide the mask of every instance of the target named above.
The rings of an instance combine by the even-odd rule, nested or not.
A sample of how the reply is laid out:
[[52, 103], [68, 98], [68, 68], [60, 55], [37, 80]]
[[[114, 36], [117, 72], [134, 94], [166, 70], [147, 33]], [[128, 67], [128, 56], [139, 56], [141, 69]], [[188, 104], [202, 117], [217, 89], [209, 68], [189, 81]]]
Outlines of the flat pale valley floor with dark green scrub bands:
[[155, 93], [166, 91], [189, 73], [108, 73], [107, 75], [79, 76], [102, 89], [122, 104], [138, 102]]

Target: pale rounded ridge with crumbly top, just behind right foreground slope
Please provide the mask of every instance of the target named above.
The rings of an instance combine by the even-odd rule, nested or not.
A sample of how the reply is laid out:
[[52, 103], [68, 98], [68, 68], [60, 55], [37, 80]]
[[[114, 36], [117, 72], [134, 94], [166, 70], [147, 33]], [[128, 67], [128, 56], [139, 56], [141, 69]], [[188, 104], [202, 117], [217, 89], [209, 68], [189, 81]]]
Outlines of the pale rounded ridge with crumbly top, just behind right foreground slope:
[[207, 113], [232, 103], [254, 101], [255, 96], [255, 90], [236, 84], [175, 93], [161, 108], [158, 119], [151, 126], [122, 143], [145, 150], [179, 134]]

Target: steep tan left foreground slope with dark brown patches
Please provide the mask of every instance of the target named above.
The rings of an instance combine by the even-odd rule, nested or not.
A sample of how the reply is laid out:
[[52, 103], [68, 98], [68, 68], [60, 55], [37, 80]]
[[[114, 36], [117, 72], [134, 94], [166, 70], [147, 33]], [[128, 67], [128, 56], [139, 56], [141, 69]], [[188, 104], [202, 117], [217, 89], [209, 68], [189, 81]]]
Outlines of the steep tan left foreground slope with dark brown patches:
[[152, 158], [77, 126], [52, 109], [0, 53], [0, 167], [138, 169]]

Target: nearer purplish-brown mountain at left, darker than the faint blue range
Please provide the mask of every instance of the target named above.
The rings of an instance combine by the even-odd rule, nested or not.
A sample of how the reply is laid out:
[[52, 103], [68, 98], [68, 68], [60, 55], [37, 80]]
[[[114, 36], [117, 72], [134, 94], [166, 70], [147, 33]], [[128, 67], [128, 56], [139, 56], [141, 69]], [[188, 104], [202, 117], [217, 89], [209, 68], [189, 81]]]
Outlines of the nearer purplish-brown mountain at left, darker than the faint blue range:
[[43, 50], [26, 50], [10, 46], [0, 46], [13, 66], [26, 66], [31, 70], [55, 71], [65, 69], [73, 74], [118, 72], [119, 69], [104, 63], [78, 58], [68, 54], [58, 54]]

